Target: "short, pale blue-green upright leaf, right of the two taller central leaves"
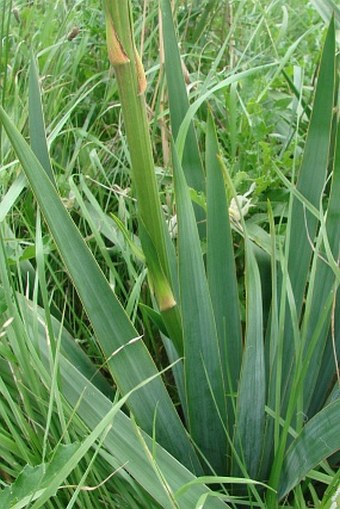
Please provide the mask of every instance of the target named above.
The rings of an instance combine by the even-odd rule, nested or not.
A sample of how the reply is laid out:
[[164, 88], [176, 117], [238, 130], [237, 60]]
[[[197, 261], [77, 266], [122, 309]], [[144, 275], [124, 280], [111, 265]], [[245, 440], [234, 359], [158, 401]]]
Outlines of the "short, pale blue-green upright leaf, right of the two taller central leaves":
[[259, 472], [265, 422], [262, 291], [253, 247], [246, 239], [246, 332], [237, 397], [235, 443], [249, 477]]

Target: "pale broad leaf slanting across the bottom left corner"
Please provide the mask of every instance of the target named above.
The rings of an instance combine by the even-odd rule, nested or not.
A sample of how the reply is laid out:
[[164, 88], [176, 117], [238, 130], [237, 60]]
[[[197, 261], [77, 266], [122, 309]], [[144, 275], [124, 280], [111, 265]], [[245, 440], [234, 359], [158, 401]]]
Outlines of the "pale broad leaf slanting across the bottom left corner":
[[[26, 323], [30, 324], [31, 322], [33, 331], [33, 322], [36, 318], [32, 314], [32, 304], [23, 298], [21, 309]], [[32, 341], [39, 350], [44, 364], [48, 367], [50, 354], [44, 327], [39, 328], [38, 333], [38, 335], [32, 333]], [[116, 411], [113, 426], [105, 435], [106, 451], [113, 455], [115, 465], [124, 466], [124, 469], [159, 502], [161, 507], [173, 509], [155, 470], [158, 469], [161, 472], [173, 493], [179, 491], [184, 484], [194, 481], [196, 477], [154, 439], [142, 431], [143, 440], [154, 454], [154, 464], [150, 463], [150, 459], [146, 457], [145, 451], [140, 446], [136, 434], [136, 424], [126, 413], [117, 409], [117, 407], [115, 408], [112, 401], [84, 375], [84, 372], [81, 373], [76, 365], [65, 357], [64, 352], [60, 354], [58, 367], [60, 390], [71, 408], [81, 417], [90, 431], [95, 430], [99, 424], [103, 425], [103, 419], [105, 420], [110, 412]], [[140, 388], [137, 390], [137, 394], [139, 392]], [[121, 403], [122, 401], [119, 402], [119, 406], [121, 406]], [[107, 430], [107, 427], [104, 426], [104, 429]], [[106, 454], [103, 457], [105, 458]], [[180, 509], [192, 509], [198, 498], [207, 492], [209, 490], [205, 486], [193, 486], [181, 497], [178, 507]], [[221, 502], [214, 501], [206, 507], [207, 509], [222, 509], [224, 506]]]

